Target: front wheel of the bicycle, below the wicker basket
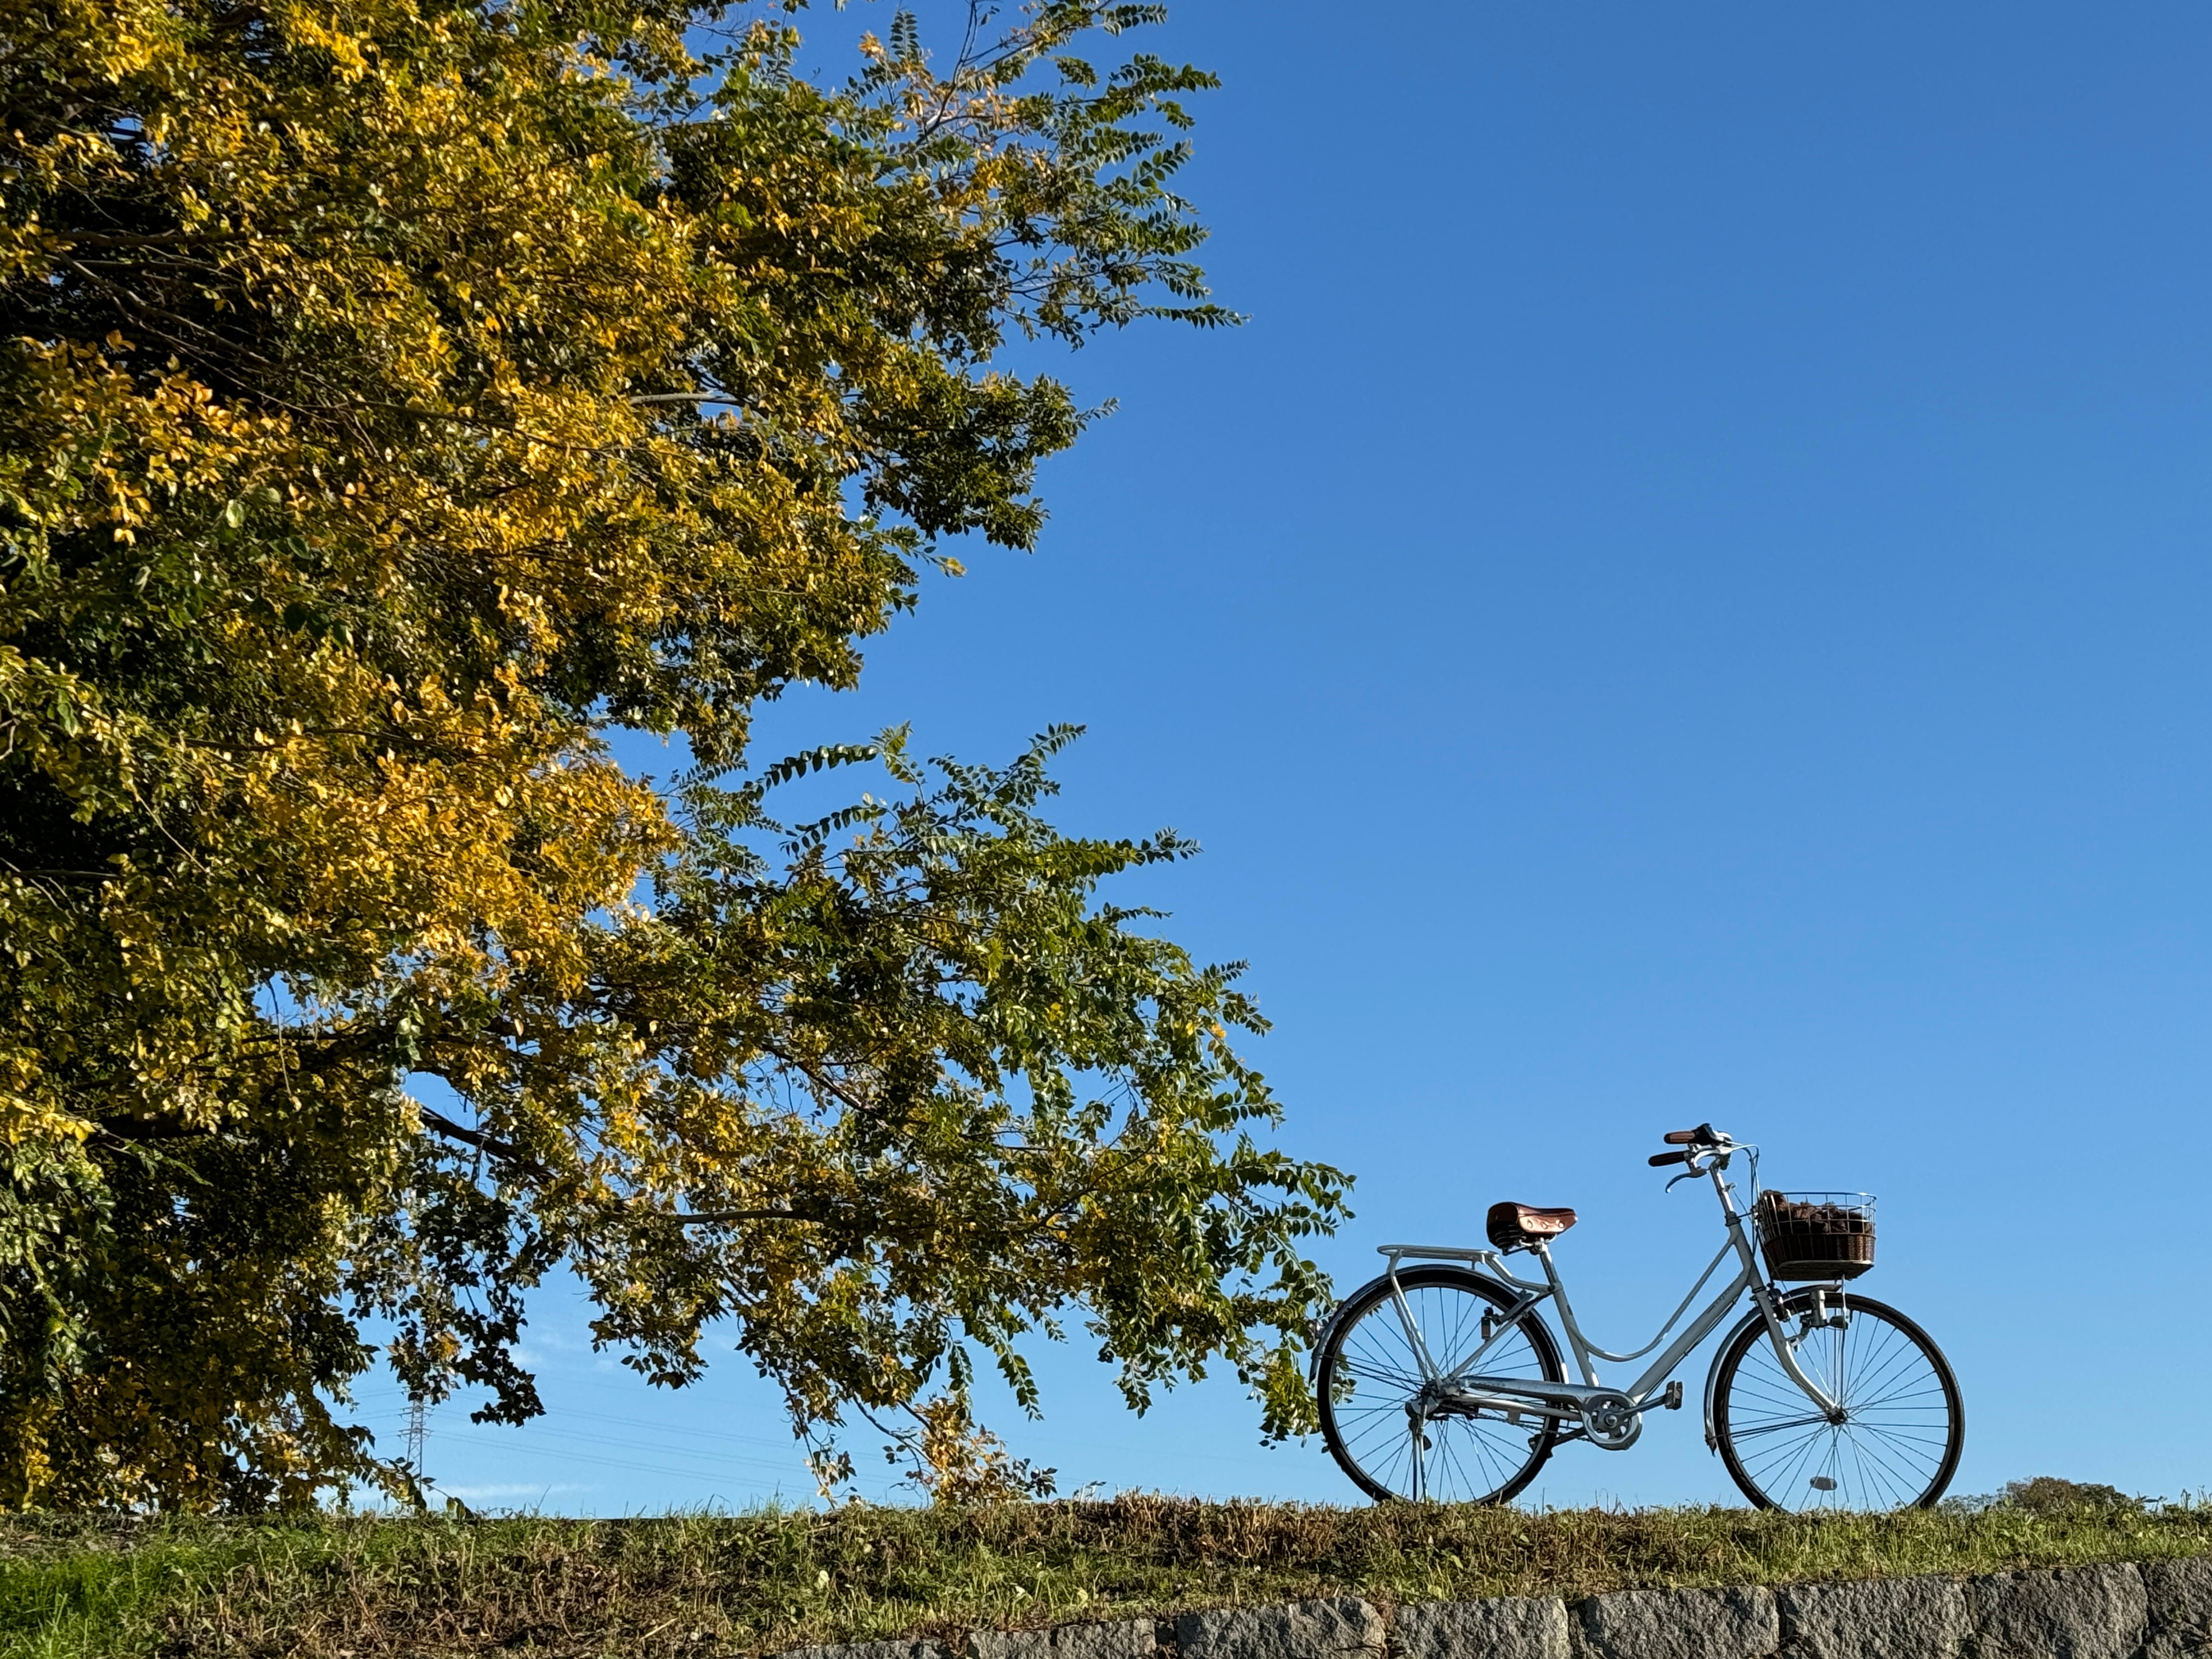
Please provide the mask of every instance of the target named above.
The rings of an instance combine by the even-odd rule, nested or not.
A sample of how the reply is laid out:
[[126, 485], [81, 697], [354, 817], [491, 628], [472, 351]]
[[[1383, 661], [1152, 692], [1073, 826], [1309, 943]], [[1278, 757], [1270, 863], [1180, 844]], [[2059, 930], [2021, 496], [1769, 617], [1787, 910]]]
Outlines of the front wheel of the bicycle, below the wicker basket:
[[1896, 1307], [1796, 1290], [1783, 1332], [1825, 1413], [1783, 1369], [1752, 1314], [1721, 1349], [1712, 1431], [1730, 1478], [1761, 1509], [1933, 1509], [1966, 1447], [1958, 1378]]

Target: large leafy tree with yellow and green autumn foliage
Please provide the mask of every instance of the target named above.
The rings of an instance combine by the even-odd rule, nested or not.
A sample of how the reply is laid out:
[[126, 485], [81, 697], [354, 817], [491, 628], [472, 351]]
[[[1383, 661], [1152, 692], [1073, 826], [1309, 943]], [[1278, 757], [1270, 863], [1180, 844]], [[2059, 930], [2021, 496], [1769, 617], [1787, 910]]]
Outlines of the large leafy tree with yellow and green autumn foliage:
[[1155, 11], [825, 88], [686, 0], [0, 4], [0, 1500], [407, 1493], [365, 1321], [524, 1420], [555, 1265], [655, 1383], [726, 1325], [827, 1480], [860, 1411], [1035, 1482], [969, 1378], [1031, 1405], [1055, 1318], [1303, 1429], [1345, 1177], [1248, 1137], [1234, 969], [1097, 900], [1188, 847], [1055, 834], [1066, 730], [748, 754], [945, 538], [1035, 542], [1088, 416], [1009, 338], [1228, 321], [1210, 80], [1077, 55]]

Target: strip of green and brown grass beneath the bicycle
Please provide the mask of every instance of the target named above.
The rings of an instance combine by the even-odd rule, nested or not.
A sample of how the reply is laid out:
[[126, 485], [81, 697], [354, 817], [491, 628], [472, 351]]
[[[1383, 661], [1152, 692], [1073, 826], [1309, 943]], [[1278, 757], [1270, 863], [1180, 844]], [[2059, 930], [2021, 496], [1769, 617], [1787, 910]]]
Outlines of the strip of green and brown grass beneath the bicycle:
[[759, 1655], [973, 1626], [2212, 1553], [2212, 1506], [1761, 1515], [1110, 1502], [655, 1520], [0, 1520], [0, 1655]]

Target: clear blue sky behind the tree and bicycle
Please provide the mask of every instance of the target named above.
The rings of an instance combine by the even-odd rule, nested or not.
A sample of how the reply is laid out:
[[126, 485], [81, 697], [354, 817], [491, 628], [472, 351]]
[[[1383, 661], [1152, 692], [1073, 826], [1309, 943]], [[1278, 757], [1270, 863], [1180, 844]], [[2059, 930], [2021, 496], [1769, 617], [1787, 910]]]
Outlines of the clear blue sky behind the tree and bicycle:
[[[1285, 1144], [1358, 1175], [1345, 1290], [1573, 1203], [1635, 1347], [1717, 1241], [1644, 1155], [1712, 1119], [1880, 1197], [1955, 1491], [2212, 1484], [2201, 1413], [2095, 1387], [2212, 1365], [2212, 13], [1181, 0], [1141, 44], [1225, 80], [1188, 192], [1252, 321], [1060, 363], [1119, 411], [1042, 551], [964, 551], [761, 743], [1088, 723], [1062, 823], [1206, 845], [1128, 896], [1252, 962]], [[531, 1354], [551, 1418], [442, 1409], [449, 1489], [810, 1493], [737, 1356], [646, 1389], [560, 1287]], [[1002, 1422], [1066, 1489], [1354, 1498], [1225, 1380], [1139, 1420], [1040, 1360]], [[1734, 1502], [1694, 1416], [1528, 1500]]]

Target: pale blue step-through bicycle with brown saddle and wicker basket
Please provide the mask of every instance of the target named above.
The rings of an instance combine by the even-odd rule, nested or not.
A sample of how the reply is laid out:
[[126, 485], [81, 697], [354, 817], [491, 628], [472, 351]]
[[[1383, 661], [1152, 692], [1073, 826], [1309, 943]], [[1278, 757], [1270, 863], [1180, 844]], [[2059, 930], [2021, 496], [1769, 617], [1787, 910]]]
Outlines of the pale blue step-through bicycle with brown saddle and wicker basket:
[[[1677, 1150], [1652, 1166], [1686, 1166], [1668, 1190], [1708, 1177], [1728, 1239], [1659, 1334], [1630, 1354], [1608, 1354], [1575, 1321], [1551, 1256], [1551, 1241], [1575, 1225], [1573, 1210], [1495, 1203], [1491, 1250], [1380, 1245], [1383, 1276], [1345, 1298], [1314, 1343], [1323, 1438], [1354, 1484], [1376, 1500], [1502, 1504], [1566, 1442], [1628, 1451], [1646, 1411], [1681, 1407], [1681, 1383], [1668, 1378], [1750, 1292], [1752, 1310], [1705, 1374], [1705, 1447], [1743, 1495], [1759, 1509], [1929, 1509], [1942, 1498], [1966, 1436], [1958, 1378], [1913, 1321], [1845, 1287], [1874, 1265], [1874, 1201], [1759, 1192], [1745, 1212], [1725, 1172], [1745, 1155], [1756, 1190], [1756, 1146], [1712, 1124], [1674, 1130], [1666, 1144]], [[1506, 1270], [1517, 1250], [1537, 1259], [1542, 1281]], [[1599, 1383], [1595, 1360], [1626, 1365], [1659, 1347], [1730, 1256], [1734, 1276], [1644, 1376], [1624, 1389]], [[1409, 1261], [1427, 1265], [1402, 1267]], [[1566, 1380], [1537, 1312], [1546, 1301], [1579, 1383]]]

